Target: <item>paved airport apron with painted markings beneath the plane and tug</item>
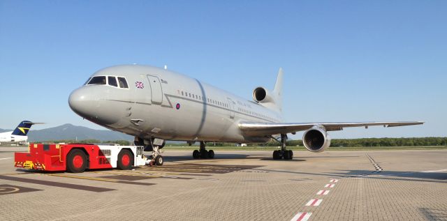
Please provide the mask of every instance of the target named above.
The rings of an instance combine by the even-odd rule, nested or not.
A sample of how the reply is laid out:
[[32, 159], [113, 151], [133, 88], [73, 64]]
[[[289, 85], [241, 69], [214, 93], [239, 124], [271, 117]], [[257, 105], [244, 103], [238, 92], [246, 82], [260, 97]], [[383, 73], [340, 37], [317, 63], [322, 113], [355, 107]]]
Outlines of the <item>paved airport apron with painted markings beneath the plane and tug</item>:
[[0, 220], [447, 220], [447, 150], [164, 151], [165, 165], [45, 173], [0, 147]]

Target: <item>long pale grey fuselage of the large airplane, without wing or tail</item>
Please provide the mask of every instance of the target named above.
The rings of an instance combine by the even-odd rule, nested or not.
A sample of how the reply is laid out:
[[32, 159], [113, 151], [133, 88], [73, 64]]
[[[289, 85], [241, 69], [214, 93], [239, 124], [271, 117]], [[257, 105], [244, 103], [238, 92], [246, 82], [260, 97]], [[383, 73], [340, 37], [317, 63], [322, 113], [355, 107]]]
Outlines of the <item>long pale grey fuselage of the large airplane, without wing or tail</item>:
[[[113, 66], [91, 75], [97, 76], [107, 82], [73, 91], [71, 109], [89, 121], [143, 139], [267, 142], [269, 137], [244, 135], [239, 123], [282, 121], [279, 110], [170, 70]], [[109, 85], [108, 76], [125, 77], [128, 88]]]

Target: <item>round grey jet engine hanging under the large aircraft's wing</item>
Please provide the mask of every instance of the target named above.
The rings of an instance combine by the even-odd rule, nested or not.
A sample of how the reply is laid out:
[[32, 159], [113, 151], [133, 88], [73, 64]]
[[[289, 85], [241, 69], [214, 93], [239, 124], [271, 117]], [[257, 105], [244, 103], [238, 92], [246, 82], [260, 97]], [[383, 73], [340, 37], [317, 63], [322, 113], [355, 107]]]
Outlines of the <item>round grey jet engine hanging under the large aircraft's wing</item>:
[[302, 143], [308, 151], [323, 152], [330, 146], [330, 137], [323, 127], [314, 126], [302, 135]]

